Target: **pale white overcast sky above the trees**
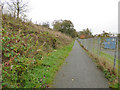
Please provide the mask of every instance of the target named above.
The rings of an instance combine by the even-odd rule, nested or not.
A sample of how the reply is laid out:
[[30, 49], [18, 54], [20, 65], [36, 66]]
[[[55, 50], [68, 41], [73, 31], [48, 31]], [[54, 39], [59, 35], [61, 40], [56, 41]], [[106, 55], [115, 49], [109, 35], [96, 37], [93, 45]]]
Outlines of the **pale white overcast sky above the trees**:
[[118, 32], [118, 2], [120, 0], [29, 0], [29, 18], [33, 22], [50, 23], [71, 20], [77, 31], [90, 28], [93, 34]]

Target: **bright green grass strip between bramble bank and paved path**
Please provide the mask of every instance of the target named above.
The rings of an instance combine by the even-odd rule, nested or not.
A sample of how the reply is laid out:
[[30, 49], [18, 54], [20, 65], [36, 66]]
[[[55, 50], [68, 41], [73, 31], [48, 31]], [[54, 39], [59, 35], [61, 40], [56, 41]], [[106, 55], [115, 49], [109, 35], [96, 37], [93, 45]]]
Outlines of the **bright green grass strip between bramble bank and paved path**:
[[65, 58], [69, 55], [72, 50], [74, 42], [65, 46], [62, 49], [54, 50], [45, 56], [41, 61], [37, 61], [37, 65], [32, 70], [29, 70], [25, 74], [26, 88], [47, 88], [50, 87], [56, 72], [60, 66], [64, 63]]

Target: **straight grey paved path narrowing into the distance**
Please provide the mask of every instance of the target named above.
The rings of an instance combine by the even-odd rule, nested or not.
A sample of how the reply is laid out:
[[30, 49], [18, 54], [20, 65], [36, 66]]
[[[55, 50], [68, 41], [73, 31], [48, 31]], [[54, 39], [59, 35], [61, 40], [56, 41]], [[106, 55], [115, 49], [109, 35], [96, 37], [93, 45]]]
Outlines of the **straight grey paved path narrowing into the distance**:
[[53, 88], [108, 88], [108, 81], [75, 41], [72, 52], [56, 75]]

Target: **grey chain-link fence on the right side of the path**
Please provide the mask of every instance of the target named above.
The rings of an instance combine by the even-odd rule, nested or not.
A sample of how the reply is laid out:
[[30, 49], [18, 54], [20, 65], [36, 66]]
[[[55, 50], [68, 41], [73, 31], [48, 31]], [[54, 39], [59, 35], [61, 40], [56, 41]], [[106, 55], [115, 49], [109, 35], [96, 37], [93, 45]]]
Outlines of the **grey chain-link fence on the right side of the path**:
[[118, 40], [117, 37], [78, 39], [81, 45], [92, 55], [100, 57], [101, 61], [109, 63], [113, 70], [118, 70]]

